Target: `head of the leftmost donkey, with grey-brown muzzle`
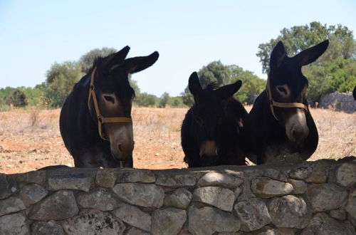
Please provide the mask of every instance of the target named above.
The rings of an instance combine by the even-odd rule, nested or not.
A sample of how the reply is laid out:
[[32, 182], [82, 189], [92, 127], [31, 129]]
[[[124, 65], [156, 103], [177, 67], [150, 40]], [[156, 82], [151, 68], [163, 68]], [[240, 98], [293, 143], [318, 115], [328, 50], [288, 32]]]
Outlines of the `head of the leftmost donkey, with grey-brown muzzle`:
[[[126, 58], [130, 47], [112, 53], [95, 61], [90, 75], [94, 76], [98, 107], [103, 118], [131, 118], [132, 99], [135, 91], [131, 88], [128, 75], [152, 66], [158, 59], [157, 51], [150, 56]], [[93, 101], [89, 103], [91, 115], [97, 120]], [[102, 137], [110, 142], [115, 160], [125, 161], [132, 157], [134, 148], [132, 122], [103, 123]]]

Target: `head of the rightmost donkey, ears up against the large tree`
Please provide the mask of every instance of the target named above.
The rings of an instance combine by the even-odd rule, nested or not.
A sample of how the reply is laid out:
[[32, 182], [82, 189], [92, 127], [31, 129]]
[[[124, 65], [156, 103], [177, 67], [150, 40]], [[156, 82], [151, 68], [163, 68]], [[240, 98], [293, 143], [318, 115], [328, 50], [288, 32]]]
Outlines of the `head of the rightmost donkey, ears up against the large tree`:
[[[288, 57], [283, 43], [279, 41], [271, 53], [267, 90], [271, 90], [273, 100], [278, 103], [287, 103], [287, 105], [291, 103], [305, 105], [305, 108], [293, 108], [293, 105], [288, 108], [271, 106], [271, 112], [274, 112], [273, 115], [286, 127], [286, 135], [295, 145], [300, 145], [309, 135], [305, 116], [305, 112], [308, 112], [308, 103], [305, 98], [308, 80], [301, 68], [319, 58], [328, 45], [329, 41], [326, 40], [301, 51], [296, 56]], [[269, 98], [271, 100], [271, 97]]]

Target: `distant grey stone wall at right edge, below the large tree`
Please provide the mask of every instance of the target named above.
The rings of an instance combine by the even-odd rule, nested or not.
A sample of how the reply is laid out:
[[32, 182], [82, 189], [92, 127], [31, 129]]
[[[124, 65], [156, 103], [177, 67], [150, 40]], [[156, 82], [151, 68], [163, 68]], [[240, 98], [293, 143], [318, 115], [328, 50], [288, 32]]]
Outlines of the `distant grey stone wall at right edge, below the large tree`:
[[319, 108], [333, 108], [338, 111], [346, 113], [356, 112], [356, 100], [354, 100], [352, 93], [334, 92], [323, 95], [320, 98]]

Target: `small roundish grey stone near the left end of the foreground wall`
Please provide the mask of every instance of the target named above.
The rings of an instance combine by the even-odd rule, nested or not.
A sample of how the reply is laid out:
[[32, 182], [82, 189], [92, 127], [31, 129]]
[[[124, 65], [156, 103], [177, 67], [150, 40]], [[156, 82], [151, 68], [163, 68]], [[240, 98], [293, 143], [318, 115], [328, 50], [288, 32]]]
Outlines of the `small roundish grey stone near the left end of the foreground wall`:
[[21, 197], [27, 205], [35, 204], [48, 194], [47, 189], [40, 184], [26, 184], [21, 188]]

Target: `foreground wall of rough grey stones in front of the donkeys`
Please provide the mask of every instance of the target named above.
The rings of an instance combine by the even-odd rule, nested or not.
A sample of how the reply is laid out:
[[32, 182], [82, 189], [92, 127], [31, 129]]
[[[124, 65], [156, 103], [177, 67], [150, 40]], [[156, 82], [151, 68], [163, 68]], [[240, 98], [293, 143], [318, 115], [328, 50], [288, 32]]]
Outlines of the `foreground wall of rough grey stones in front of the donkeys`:
[[0, 234], [355, 234], [356, 158], [0, 174]]

